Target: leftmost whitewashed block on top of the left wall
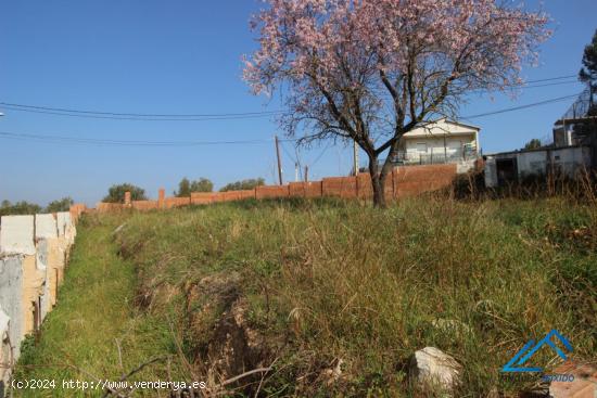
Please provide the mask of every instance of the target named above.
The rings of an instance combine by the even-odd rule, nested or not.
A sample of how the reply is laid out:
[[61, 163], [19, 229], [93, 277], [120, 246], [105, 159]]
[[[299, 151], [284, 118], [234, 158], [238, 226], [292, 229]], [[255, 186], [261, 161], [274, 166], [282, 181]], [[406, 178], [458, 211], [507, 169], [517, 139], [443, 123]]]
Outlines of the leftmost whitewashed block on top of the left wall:
[[0, 252], [35, 255], [34, 216], [3, 216], [0, 220]]

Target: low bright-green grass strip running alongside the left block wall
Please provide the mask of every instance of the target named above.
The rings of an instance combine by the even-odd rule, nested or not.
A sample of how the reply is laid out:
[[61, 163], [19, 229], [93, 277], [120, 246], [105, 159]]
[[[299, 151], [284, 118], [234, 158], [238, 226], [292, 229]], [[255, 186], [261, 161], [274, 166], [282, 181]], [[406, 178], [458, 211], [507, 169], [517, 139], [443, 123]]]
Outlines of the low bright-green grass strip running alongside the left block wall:
[[[27, 342], [15, 376], [55, 380], [56, 389], [21, 390], [17, 396], [100, 396], [101, 390], [62, 389], [62, 381], [91, 382], [92, 376], [115, 381], [124, 371], [167, 351], [164, 332], [153, 326], [151, 317], [138, 314], [132, 305], [136, 272], [117, 256], [112, 237], [117, 222], [117, 218], [107, 217], [102, 222], [79, 224], [60, 303], [43, 323], [38, 344]], [[157, 372], [148, 377], [160, 373], [164, 376]]]

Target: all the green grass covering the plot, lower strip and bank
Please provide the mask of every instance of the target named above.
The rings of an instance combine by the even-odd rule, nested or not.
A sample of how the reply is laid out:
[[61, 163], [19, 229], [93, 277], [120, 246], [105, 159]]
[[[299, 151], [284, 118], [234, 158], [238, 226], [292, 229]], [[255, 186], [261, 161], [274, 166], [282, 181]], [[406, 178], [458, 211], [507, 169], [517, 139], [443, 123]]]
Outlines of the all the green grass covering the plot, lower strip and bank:
[[[499, 370], [551, 329], [570, 338], [574, 359], [597, 357], [595, 204], [424, 196], [379, 210], [247, 201], [125, 217], [120, 257], [114, 220], [81, 227], [36, 358], [56, 360], [52, 347], [68, 347], [75, 363], [117, 376], [113, 338], [125, 336], [126, 367], [179, 347], [180, 373], [211, 385], [274, 363], [263, 380], [228, 385], [230, 395], [408, 397], [431, 394], [409, 385], [406, 368], [415, 350], [435, 346], [465, 367], [457, 396], [483, 397], [535, 384], [536, 374]], [[101, 267], [119, 280], [92, 270]], [[122, 322], [105, 320], [115, 317]], [[439, 330], [437, 319], [471, 332]], [[101, 336], [96, 322], [106, 323]], [[154, 335], [161, 343], [141, 343]], [[547, 371], [558, 364], [548, 350], [534, 359]]]

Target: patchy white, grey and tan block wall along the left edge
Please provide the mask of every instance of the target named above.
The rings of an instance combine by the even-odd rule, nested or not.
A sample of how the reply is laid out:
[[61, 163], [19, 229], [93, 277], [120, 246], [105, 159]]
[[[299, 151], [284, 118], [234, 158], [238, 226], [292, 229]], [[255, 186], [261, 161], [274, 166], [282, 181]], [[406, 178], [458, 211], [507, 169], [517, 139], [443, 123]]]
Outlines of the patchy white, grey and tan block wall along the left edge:
[[0, 383], [8, 382], [25, 336], [39, 331], [56, 304], [75, 220], [85, 209], [0, 219]]

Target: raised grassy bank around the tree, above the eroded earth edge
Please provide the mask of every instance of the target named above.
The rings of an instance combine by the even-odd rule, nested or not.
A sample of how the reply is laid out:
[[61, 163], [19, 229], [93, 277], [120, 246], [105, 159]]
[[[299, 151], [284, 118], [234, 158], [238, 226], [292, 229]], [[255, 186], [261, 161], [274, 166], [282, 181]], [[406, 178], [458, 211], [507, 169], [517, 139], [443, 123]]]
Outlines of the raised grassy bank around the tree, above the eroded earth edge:
[[[136, 215], [120, 240], [155, 308], [178, 306], [182, 319], [200, 313], [187, 330], [191, 356], [209, 352], [215, 320], [229, 308], [205, 316], [208, 295], [183, 309], [162, 292], [241, 275], [234, 288], [271, 351], [264, 364], [278, 358], [265, 383], [270, 394], [410, 394], [405, 364], [425, 346], [466, 364], [460, 394], [483, 396], [494, 386], [513, 394], [536, 377], [499, 369], [530, 338], [558, 329], [576, 358], [597, 352], [590, 206], [419, 198], [378, 211], [247, 202]], [[472, 333], [441, 332], [432, 325], [437, 318]], [[339, 359], [343, 374], [329, 383], [326, 370]], [[552, 359], [545, 350], [537, 363]], [[204, 361], [203, 370], [211, 365]]]

